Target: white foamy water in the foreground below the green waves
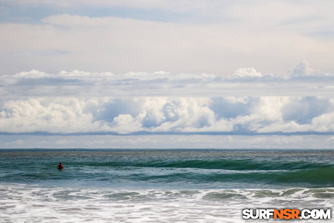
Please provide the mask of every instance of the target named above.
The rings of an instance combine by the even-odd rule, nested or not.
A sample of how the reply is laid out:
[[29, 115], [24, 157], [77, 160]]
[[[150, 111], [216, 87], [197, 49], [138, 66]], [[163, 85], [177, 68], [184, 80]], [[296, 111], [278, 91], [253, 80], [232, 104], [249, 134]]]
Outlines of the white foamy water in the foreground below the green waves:
[[[241, 217], [245, 208], [332, 208], [334, 204], [333, 188], [287, 191], [76, 190], [0, 183], [0, 221], [245, 222]], [[328, 196], [317, 198], [317, 194]]]

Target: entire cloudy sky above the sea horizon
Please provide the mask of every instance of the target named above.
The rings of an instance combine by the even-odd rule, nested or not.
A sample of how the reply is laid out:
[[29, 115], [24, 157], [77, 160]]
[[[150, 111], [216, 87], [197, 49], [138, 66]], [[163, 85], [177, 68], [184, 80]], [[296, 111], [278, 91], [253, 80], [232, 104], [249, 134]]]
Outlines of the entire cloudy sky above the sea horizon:
[[334, 148], [333, 8], [0, 0], [0, 147]]

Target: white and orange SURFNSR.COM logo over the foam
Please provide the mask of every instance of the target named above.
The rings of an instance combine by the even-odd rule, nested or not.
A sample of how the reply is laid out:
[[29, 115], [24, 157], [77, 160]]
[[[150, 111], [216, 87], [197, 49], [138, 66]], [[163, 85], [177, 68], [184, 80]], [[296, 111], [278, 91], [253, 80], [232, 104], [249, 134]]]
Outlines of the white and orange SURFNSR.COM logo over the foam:
[[330, 219], [331, 209], [244, 209], [244, 219]]

